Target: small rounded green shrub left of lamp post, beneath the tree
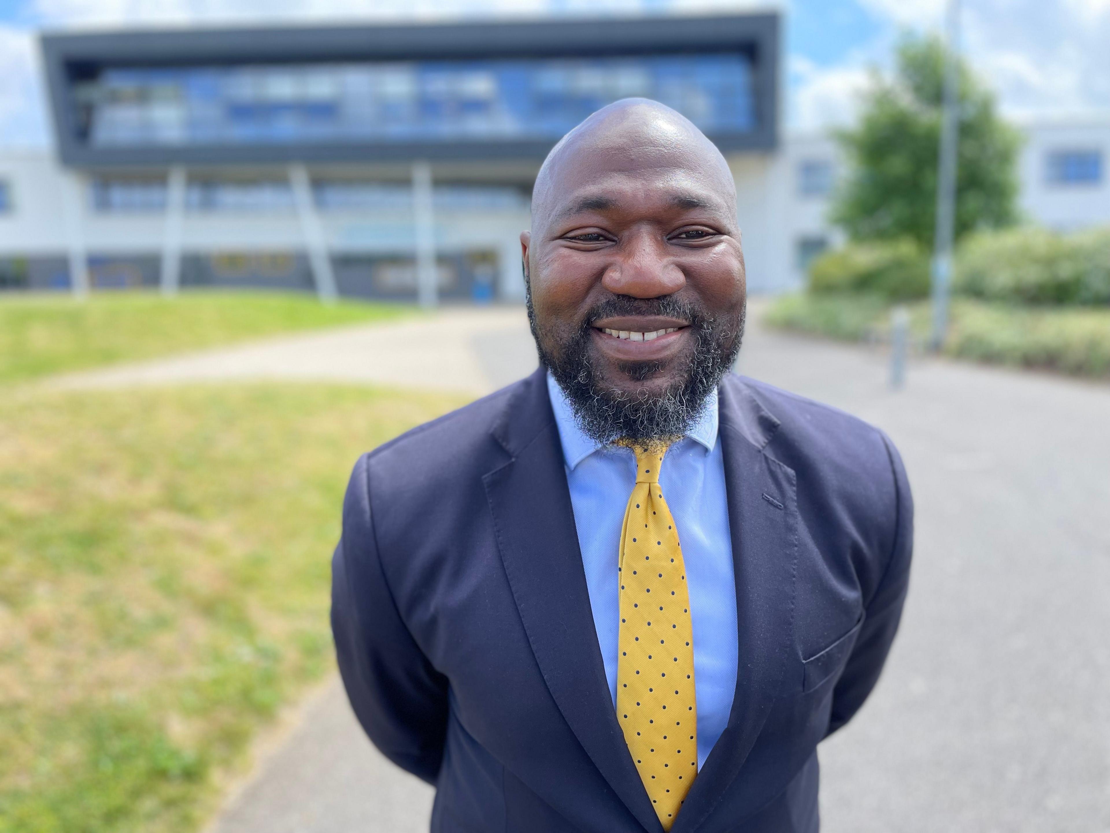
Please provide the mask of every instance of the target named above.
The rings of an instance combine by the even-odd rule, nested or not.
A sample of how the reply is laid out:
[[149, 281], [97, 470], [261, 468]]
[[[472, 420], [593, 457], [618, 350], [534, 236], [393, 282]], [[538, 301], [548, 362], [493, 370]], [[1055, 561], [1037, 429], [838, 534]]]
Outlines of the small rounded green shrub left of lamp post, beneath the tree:
[[864, 292], [890, 300], [929, 294], [929, 259], [911, 240], [848, 243], [809, 267], [813, 292]]

